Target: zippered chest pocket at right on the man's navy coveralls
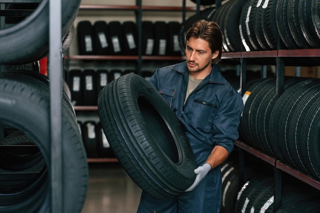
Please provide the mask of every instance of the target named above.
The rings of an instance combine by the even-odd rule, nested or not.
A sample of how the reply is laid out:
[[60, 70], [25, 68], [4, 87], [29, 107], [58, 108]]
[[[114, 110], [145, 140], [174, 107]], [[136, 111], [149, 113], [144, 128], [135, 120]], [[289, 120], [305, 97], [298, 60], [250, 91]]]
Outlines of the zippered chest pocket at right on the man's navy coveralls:
[[190, 113], [185, 113], [185, 116], [190, 125], [200, 128], [201, 131], [211, 132], [219, 103], [216, 100], [203, 100], [207, 99], [193, 99], [189, 102]]

